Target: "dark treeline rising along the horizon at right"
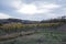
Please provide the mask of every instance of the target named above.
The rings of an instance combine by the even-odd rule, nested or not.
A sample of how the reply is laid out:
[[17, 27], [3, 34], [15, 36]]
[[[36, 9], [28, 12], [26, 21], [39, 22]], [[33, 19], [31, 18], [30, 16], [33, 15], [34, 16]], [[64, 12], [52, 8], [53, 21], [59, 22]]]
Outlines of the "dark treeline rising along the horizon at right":
[[66, 16], [62, 16], [62, 18], [58, 18], [58, 19], [51, 19], [51, 20], [44, 20], [44, 21], [41, 21], [41, 23], [66, 23]]

